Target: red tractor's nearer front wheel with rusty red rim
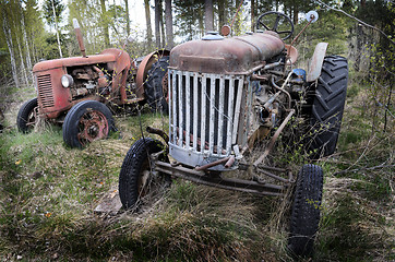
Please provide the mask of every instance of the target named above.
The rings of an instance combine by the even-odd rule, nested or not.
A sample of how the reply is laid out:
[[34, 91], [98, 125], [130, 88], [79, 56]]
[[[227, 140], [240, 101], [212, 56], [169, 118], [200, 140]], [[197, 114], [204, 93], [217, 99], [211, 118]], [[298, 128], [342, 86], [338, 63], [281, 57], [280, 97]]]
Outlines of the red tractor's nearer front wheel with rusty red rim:
[[96, 100], [84, 100], [73, 106], [64, 118], [63, 141], [71, 147], [84, 147], [105, 139], [115, 128], [108, 107]]

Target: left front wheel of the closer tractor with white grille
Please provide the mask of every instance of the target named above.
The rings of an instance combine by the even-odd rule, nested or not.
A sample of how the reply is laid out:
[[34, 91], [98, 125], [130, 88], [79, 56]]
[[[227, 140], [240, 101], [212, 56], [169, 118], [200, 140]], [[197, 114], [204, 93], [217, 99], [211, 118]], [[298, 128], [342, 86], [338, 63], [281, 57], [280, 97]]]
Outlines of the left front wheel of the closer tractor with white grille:
[[[123, 159], [119, 174], [119, 196], [125, 209], [137, 209], [170, 184], [170, 177], [153, 170], [151, 154], [164, 151], [165, 146], [149, 138], [137, 140]], [[159, 160], [168, 162], [165, 152]]]

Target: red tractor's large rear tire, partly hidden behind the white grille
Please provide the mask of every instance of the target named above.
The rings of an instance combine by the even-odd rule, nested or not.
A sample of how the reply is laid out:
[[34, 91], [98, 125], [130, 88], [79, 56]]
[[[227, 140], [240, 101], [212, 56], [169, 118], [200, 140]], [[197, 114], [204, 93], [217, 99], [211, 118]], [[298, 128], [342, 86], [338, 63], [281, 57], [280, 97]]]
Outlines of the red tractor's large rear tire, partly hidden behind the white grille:
[[168, 80], [167, 67], [169, 57], [163, 57], [155, 62], [148, 71], [147, 81], [144, 84], [145, 96], [153, 111], [168, 114]]

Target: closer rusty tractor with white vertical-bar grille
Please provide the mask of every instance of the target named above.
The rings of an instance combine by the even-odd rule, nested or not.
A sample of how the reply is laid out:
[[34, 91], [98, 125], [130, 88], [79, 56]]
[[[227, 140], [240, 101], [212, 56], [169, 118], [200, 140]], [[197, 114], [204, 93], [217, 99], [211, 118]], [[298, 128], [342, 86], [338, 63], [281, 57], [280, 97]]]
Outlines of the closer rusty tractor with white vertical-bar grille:
[[[308, 25], [316, 19], [316, 12], [309, 12]], [[294, 116], [314, 131], [304, 145], [312, 158], [334, 153], [348, 66], [343, 57], [325, 56], [327, 44], [321, 43], [307, 72], [294, 69], [298, 36], [290, 45], [284, 41], [292, 33], [287, 15], [266, 12], [258, 19], [255, 33], [227, 37], [211, 32], [171, 50], [169, 130], [148, 127], [164, 143], [145, 138], [129, 150], [119, 175], [125, 209], [139, 209], [171, 177], [259, 195], [285, 195], [294, 189], [288, 248], [296, 255], [311, 254], [323, 170], [306, 164], [296, 176], [268, 158]]]

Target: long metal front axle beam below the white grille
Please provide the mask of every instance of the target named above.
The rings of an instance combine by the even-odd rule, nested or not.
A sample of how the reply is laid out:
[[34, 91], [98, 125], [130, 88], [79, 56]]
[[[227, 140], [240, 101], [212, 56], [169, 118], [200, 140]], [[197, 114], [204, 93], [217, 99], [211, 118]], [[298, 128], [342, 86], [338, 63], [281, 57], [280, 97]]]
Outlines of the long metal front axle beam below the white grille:
[[198, 171], [182, 166], [171, 166], [169, 163], [155, 162], [155, 170], [165, 172], [175, 177], [190, 180], [210, 187], [235, 190], [240, 192], [253, 193], [259, 195], [284, 195], [285, 186], [260, 183], [247, 179], [223, 178], [219, 176], [210, 176], [204, 171]]

